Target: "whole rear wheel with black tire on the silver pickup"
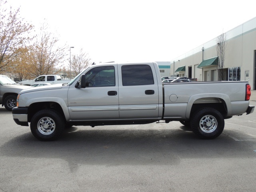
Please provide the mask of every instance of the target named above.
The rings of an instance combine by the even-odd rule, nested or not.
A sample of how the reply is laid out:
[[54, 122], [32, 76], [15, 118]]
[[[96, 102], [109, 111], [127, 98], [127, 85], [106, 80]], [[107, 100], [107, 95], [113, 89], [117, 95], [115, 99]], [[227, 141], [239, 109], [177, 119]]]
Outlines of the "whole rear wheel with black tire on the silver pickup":
[[190, 125], [192, 131], [200, 138], [214, 139], [222, 133], [225, 122], [218, 110], [207, 107], [192, 115]]

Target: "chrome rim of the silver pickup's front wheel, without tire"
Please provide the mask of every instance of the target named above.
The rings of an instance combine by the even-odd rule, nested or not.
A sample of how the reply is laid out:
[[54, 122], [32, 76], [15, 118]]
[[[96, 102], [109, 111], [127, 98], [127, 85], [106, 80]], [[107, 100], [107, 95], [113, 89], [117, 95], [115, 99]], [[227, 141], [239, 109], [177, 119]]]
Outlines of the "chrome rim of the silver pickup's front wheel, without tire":
[[50, 135], [55, 130], [55, 122], [50, 117], [43, 117], [38, 121], [37, 129], [43, 135]]

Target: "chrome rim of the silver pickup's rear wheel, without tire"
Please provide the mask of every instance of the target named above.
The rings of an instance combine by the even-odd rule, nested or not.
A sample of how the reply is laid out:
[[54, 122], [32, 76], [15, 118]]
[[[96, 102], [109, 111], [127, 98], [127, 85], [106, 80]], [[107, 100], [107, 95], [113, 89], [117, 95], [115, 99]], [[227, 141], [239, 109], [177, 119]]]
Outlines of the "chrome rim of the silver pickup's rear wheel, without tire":
[[214, 116], [203, 116], [199, 123], [200, 129], [205, 133], [214, 132], [218, 126], [218, 122]]

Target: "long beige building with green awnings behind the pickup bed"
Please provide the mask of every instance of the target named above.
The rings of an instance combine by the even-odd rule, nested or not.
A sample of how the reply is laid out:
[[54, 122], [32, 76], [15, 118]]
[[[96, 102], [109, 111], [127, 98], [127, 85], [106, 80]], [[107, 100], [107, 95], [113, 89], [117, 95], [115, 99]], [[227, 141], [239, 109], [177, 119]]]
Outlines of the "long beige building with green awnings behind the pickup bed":
[[[171, 61], [170, 76], [187, 76], [198, 81], [217, 81], [217, 38]], [[256, 17], [226, 32], [224, 80], [246, 80], [256, 84]]]

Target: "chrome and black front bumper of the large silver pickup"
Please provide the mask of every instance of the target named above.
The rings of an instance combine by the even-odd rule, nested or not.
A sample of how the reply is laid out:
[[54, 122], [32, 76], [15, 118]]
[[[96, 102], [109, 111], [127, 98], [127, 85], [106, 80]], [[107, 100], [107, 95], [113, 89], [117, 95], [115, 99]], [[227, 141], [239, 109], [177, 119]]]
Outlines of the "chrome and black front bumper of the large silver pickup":
[[28, 126], [28, 108], [12, 108], [12, 117], [16, 124]]

